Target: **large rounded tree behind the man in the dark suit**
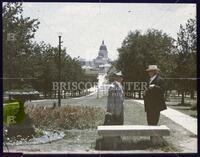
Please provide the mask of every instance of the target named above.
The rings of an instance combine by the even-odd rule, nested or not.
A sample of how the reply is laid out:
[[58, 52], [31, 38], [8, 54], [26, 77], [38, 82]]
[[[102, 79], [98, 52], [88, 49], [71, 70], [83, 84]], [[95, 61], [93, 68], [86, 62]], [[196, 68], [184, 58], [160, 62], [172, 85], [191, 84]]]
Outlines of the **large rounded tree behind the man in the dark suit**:
[[[117, 69], [122, 70], [128, 82], [146, 81], [145, 70], [149, 64], [157, 64], [167, 75], [171, 72], [168, 67], [172, 65], [173, 42], [167, 34], [155, 29], [149, 29], [144, 34], [138, 30], [129, 32], [118, 49]], [[133, 89], [131, 91], [134, 92]]]

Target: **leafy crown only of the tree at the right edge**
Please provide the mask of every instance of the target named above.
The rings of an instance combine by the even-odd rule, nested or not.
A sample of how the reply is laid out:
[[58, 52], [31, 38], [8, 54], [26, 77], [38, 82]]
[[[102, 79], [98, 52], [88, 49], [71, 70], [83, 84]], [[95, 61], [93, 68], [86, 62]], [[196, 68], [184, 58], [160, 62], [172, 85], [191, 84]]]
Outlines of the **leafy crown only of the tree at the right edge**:
[[196, 77], [196, 20], [189, 19], [185, 27], [180, 25], [177, 35], [175, 75], [179, 77]]

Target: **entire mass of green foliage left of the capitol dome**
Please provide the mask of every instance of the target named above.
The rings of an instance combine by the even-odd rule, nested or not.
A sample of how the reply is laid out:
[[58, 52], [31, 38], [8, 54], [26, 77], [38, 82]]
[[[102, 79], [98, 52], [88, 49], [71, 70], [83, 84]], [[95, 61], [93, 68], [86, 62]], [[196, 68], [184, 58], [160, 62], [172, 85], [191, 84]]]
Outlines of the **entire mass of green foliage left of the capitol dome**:
[[[44, 42], [33, 42], [39, 21], [23, 16], [22, 3], [6, 3], [3, 6], [3, 72], [4, 90], [23, 86], [51, 95], [52, 82], [58, 81], [58, 48]], [[8, 40], [14, 33], [15, 40]], [[55, 39], [57, 40], [57, 39]], [[34, 78], [30, 80], [10, 78]], [[87, 81], [79, 61], [71, 58], [66, 49], [61, 51], [61, 81]]]

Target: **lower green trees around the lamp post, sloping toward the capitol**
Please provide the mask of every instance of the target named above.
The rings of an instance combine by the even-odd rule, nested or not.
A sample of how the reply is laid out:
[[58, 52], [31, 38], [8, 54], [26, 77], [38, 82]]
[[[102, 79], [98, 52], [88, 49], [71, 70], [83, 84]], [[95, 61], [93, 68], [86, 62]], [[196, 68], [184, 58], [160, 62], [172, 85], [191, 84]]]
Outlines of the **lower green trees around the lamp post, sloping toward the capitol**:
[[[51, 94], [52, 82], [58, 81], [58, 48], [36, 44], [33, 52], [36, 54], [31, 58], [33, 73], [37, 78], [34, 87], [39, 91]], [[87, 76], [82, 70], [79, 61], [71, 58], [66, 49], [61, 51], [61, 81], [86, 81]]]

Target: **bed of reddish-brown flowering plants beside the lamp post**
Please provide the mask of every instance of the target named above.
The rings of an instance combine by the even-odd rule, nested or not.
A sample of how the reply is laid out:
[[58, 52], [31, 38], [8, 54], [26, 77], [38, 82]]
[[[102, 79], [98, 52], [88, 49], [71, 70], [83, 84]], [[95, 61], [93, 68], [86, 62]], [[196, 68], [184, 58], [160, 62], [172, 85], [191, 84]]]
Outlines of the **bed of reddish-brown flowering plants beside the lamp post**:
[[103, 123], [105, 112], [88, 106], [26, 107], [36, 127], [48, 129], [88, 129]]

